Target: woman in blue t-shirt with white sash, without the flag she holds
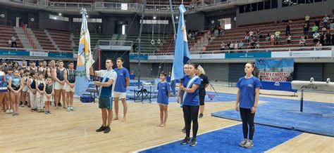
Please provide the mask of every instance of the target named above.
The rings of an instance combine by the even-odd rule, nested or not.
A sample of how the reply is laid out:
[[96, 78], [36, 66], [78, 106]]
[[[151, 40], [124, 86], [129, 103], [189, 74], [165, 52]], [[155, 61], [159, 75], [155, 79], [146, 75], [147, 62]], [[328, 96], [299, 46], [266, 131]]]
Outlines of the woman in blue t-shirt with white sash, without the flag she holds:
[[[190, 142], [190, 146], [197, 144], [197, 131], [198, 131], [198, 112], [199, 112], [199, 84], [201, 79], [196, 76], [197, 65], [190, 63], [188, 65], [188, 75], [183, 76], [180, 85], [180, 90], [183, 93], [183, 117], [185, 119], [185, 139], [181, 142], [181, 145], [185, 145]], [[192, 124], [192, 140], [190, 141], [190, 128]]]

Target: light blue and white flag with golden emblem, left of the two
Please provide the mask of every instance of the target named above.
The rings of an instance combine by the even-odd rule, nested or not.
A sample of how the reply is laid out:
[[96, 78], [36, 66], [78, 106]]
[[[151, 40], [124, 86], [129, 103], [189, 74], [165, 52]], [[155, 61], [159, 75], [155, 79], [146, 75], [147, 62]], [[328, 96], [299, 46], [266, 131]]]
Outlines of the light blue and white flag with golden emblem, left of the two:
[[82, 8], [82, 23], [80, 31], [79, 51], [77, 70], [75, 76], [75, 95], [82, 95], [89, 85], [89, 69], [92, 67], [94, 60], [90, 49], [90, 36], [87, 27], [86, 9]]

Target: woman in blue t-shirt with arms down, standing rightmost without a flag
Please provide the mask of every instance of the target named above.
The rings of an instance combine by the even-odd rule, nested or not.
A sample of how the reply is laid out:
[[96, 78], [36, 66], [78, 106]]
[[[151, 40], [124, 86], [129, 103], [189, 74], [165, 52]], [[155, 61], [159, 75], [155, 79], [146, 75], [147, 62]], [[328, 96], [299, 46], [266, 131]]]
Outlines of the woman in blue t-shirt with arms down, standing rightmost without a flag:
[[[239, 145], [246, 148], [253, 147], [254, 117], [261, 87], [260, 80], [253, 76], [254, 69], [254, 63], [247, 63], [245, 65], [246, 76], [237, 81], [237, 102], [235, 103], [235, 109], [240, 112], [244, 135], [244, 140]], [[247, 137], [248, 134], [249, 137]]]

